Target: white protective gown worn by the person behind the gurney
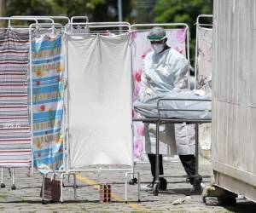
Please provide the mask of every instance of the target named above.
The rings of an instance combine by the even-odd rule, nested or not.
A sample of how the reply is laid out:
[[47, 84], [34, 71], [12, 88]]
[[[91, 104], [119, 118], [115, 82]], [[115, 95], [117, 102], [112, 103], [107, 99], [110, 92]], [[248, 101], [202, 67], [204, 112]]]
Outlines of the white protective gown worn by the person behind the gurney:
[[[156, 54], [151, 51], [144, 59], [139, 101], [154, 95], [164, 95], [175, 89], [176, 84], [189, 70], [189, 61], [176, 49], [166, 49]], [[155, 124], [145, 124], [146, 153], [155, 153]], [[160, 154], [195, 154], [195, 126], [186, 124], [160, 125]]]

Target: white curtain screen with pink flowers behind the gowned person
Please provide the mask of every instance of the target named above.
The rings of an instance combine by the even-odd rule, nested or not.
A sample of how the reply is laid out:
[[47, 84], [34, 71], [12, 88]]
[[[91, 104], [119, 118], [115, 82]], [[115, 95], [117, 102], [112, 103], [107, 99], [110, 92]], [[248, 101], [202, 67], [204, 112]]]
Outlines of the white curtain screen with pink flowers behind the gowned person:
[[[154, 26], [162, 26], [166, 29], [167, 44], [176, 49], [179, 53], [186, 55], [189, 59], [189, 26], [186, 24], [148, 24], [148, 25], [133, 25], [131, 26], [131, 38], [133, 45], [132, 49], [132, 73], [133, 73], [133, 101], [137, 100], [137, 95], [139, 94], [141, 88], [141, 74], [144, 69], [143, 59], [152, 51], [150, 42], [148, 41], [148, 30]], [[168, 29], [172, 27], [172, 29]], [[188, 70], [189, 72], [189, 70]], [[133, 112], [133, 118], [139, 118], [137, 112]], [[150, 126], [155, 126], [154, 124], [149, 124]], [[145, 144], [145, 131], [144, 124], [134, 122], [133, 123], [133, 135], [134, 135], [134, 158], [137, 160], [143, 160], [143, 153], [148, 152], [147, 146]], [[160, 131], [160, 141], [166, 137], [166, 132], [168, 130]], [[172, 134], [172, 133], [167, 133]], [[151, 145], [149, 149], [154, 153], [155, 150], [155, 135], [150, 135]], [[153, 138], [154, 137], [154, 138]], [[160, 143], [160, 153], [166, 155], [173, 154], [173, 147], [169, 147], [166, 143]]]

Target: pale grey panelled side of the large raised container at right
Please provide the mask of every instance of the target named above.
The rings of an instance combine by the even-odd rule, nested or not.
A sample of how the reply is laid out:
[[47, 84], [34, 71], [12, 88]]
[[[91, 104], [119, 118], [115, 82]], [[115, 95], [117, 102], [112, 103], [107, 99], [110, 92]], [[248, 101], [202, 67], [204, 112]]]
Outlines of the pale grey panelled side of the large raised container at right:
[[215, 0], [212, 164], [217, 185], [256, 201], [256, 1]]

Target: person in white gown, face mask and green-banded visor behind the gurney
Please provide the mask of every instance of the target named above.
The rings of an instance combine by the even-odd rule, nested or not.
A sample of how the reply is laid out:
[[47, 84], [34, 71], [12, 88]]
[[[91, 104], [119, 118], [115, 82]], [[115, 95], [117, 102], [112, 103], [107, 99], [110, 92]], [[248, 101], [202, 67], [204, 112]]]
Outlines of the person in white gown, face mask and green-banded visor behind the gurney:
[[[180, 85], [185, 74], [189, 70], [189, 61], [184, 55], [177, 52], [176, 49], [170, 48], [167, 44], [166, 31], [162, 27], [154, 27], [148, 33], [148, 39], [151, 43], [153, 51], [149, 52], [144, 58], [145, 70], [142, 74], [141, 90], [138, 95], [140, 101], [146, 100], [148, 97], [164, 95], [172, 91], [175, 85]], [[154, 125], [154, 124], [153, 124]], [[196, 182], [192, 191], [201, 190], [201, 176], [196, 180], [191, 177], [195, 175], [195, 129], [193, 125], [173, 124], [164, 125], [164, 130], [160, 130], [160, 141], [169, 143], [171, 151], [176, 150], [184, 170], [189, 176], [188, 180], [192, 185]], [[161, 126], [160, 126], [161, 127]], [[188, 128], [193, 130], [188, 131]], [[190, 132], [190, 135], [188, 135]], [[192, 132], [192, 134], [191, 134]], [[164, 133], [164, 136], [161, 136]], [[151, 172], [153, 181], [146, 187], [150, 190], [154, 187], [155, 181], [155, 151], [150, 150], [147, 145], [154, 143], [150, 137], [154, 135], [155, 130], [151, 130], [150, 124], [145, 124], [145, 142], [146, 152], [151, 164]], [[183, 140], [187, 138], [189, 140]], [[172, 152], [171, 152], [172, 153]], [[162, 154], [160, 154], [160, 175], [164, 174]], [[160, 177], [160, 190], [166, 190], [166, 179]]]

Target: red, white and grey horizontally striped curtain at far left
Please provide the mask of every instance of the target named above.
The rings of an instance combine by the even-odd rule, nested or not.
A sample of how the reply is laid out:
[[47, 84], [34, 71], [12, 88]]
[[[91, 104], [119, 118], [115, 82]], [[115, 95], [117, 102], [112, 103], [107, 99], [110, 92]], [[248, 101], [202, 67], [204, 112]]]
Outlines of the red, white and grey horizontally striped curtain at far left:
[[31, 166], [27, 108], [28, 32], [0, 32], [0, 166]]

